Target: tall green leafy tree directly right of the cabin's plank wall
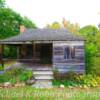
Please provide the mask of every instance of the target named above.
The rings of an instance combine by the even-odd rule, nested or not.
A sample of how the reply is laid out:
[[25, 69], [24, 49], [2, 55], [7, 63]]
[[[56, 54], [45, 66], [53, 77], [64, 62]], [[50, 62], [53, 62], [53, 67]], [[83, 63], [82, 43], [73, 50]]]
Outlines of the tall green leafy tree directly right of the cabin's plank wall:
[[[85, 39], [85, 54], [86, 54], [86, 72], [87, 73], [95, 73], [97, 74], [97, 67], [95, 63], [97, 48], [98, 48], [98, 39], [97, 33], [98, 29], [95, 26], [88, 25], [79, 30], [80, 35], [82, 35]], [[95, 70], [94, 70], [95, 69]]]

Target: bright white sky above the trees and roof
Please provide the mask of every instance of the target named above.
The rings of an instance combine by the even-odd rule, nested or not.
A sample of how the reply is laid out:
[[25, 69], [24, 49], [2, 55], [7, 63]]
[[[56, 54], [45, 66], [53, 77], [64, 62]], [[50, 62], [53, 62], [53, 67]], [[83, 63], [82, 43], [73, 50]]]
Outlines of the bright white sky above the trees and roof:
[[63, 18], [81, 27], [100, 23], [100, 0], [6, 0], [6, 4], [40, 28]]

